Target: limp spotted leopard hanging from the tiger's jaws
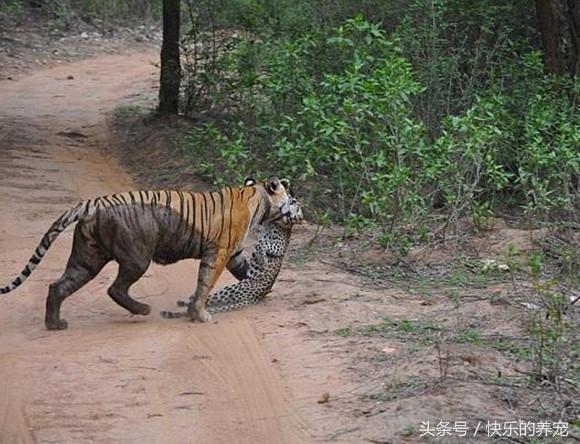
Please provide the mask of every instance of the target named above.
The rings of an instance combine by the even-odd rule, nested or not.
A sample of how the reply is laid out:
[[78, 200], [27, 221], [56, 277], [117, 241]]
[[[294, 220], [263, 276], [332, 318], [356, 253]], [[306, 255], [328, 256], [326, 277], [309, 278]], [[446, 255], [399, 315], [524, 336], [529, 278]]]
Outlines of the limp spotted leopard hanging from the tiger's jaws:
[[[301, 206], [296, 203], [293, 207], [296, 214], [291, 220], [266, 222], [262, 226], [244, 279], [209, 295], [207, 309], [211, 314], [257, 304], [272, 290], [290, 243], [293, 224], [303, 218]], [[179, 300], [177, 305], [188, 307], [189, 301]], [[183, 318], [187, 313], [164, 310], [161, 316]]]

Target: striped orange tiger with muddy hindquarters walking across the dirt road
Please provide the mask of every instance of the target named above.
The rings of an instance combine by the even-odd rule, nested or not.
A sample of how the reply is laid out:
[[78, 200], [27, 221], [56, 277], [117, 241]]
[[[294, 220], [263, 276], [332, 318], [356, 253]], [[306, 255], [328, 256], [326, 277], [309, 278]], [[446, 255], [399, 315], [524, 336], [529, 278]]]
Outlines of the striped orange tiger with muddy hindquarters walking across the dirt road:
[[0, 288], [0, 294], [19, 287], [58, 235], [76, 222], [65, 271], [49, 286], [48, 330], [68, 327], [60, 317], [61, 304], [112, 260], [119, 270], [107, 290], [109, 297], [132, 314], [148, 315], [151, 307], [131, 298], [128, 290], [151, 261], [166, 265], [200, 259], [188, 315], [192, 321], [209, 322], [206, 301], [223, 270], [227, 268], [238, 279], [247, 274], [248, 260], [241, 245], [249, 231], [268, 221], [294, 217], [291, 204], [295, 199], [289, 188], [287, 180], [272, 176], [213, 192], [130, 191], [80, 202], [56, 219], [20, 275]]

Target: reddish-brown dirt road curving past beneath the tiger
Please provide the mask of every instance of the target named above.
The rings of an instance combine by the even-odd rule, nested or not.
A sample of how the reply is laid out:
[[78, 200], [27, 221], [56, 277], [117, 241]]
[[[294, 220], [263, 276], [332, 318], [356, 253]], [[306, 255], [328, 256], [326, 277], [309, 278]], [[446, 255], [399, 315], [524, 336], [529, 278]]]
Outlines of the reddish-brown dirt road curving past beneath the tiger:
[[[134, 189], [96, 149], [104, 113], [152, 88], [155, 54], [107, 56], [0, 83], [0, 280], [20, 272], [52, 221], [78, 200]], [[312, 442], [252, 311], [210, 325], [159, 317], [193, 291], [197, 263], [152, 267], [132, 317], [106, 296], [116, 266], [63, 305], [46, 331], [47, 287], [71, 230], [0, 300], [0, 443]], [[231, 280], [222, 278], [222, 284]]]

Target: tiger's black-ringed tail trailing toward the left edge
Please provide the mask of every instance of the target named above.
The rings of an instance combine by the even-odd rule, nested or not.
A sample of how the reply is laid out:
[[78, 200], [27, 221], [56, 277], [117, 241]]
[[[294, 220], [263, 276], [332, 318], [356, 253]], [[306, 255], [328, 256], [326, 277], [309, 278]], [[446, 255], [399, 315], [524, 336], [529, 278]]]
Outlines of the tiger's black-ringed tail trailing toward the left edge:
[[0, 288], [0, 294], [10, 293], [12, 290], [19, 287], [26, 279], [28, 279], [28, 276], [32, 274], [32, 271], [40, 263], [58, 235], [62, 233], [66, 227], [72, 223], [75, 223], [81, 218], [81, 216], [86, 214], [86, 212], [89, 210], [89, 203], [90, 201], [79, 203], [75, 207], [63, 213], [56, 221], [54, 221], [48, 231], [44, 234], [44, 236], [42, 236], [38, 247], [36, 247], [34, 254], [30, 257], [22, 272], [9, 285]]

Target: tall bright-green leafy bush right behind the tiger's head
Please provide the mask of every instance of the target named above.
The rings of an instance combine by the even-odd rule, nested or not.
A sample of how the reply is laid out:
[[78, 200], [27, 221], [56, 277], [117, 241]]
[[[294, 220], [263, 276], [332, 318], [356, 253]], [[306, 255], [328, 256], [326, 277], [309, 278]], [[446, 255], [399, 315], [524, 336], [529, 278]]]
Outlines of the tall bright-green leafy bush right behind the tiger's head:
[[360, 215], [393, 227], [424, 210], [426, 178], [417, 173], [428, 145], [412, 109], [422, 87], [397, 42], [361, 18], [326, 44], [343, 66], [316, 87], [305, 82], [299, 111], [273, 128], [272, 161], [292, 177], [327, 178], [343, 220]]

